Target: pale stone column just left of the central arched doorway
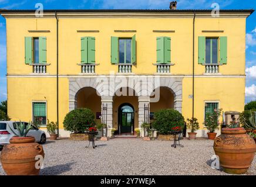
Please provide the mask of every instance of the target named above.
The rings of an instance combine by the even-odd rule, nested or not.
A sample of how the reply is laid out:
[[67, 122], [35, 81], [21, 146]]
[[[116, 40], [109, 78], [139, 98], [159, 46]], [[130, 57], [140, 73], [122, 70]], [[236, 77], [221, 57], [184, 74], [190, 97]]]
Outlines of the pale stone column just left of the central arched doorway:
[[107, 137], [111, 137], [111, 130], [113, 129], [113, 97], [102, 96], [102, 117], [103, 117], [103, 106], [107, 106]]

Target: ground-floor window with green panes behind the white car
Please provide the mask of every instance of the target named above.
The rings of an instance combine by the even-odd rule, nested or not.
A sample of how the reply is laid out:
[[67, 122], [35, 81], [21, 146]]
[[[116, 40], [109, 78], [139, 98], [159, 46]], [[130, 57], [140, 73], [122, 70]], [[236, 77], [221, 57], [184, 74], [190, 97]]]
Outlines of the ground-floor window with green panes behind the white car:
[[46, 125], [46, 102], [33, 102], [33, 123]]

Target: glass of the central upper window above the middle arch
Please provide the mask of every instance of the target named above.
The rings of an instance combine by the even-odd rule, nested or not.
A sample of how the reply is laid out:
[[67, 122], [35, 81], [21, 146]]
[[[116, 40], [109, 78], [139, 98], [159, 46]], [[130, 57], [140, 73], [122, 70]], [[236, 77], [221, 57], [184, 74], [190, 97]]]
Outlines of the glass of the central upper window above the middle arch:
[[131, 43], [132, 39], [119, 39], [119, 63], [131, 63]]

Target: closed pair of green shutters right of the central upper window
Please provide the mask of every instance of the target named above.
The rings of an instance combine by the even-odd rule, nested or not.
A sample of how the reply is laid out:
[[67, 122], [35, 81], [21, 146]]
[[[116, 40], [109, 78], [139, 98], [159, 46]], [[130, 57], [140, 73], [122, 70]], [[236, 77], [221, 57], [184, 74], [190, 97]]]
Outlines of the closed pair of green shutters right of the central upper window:
[[170, 37], [157, 37], [156, 39], [156, 62], [159, 64], [171, 63], [171, 38]]

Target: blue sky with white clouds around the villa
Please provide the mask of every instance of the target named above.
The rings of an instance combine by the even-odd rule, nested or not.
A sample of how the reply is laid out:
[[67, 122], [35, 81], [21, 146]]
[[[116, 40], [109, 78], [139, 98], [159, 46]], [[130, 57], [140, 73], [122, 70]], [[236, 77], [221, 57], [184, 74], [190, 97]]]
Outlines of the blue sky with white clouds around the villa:
[[[0, 8], [35, 9], [36, 3], [42, 3], [44, 9], [169, 9], [169, 2], [170, 0], [0, 0]], [[220, 5], [220, 9], [256, 9], [255, 0], [179, 0], [177, 2], [178, 9], [211, 9], [211, 4], [214, 2]], [[6, 99], [5, 32], [5, 19], [0, 16], [0, 101]], [[256, 12], [247, 19], [246, 33], [245, 102], [249, 102], [256, 100]]]

